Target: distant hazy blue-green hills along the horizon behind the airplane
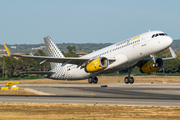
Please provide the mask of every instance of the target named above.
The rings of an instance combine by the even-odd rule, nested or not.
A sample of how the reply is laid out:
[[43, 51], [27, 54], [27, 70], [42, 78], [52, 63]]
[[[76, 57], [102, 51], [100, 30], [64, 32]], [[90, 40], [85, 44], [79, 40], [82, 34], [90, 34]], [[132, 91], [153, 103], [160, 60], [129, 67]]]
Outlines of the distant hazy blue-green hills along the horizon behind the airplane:
[[[61, 51], [68, 52], [66, 47], [68, 45], [75, 45], [77, 51], [76, 52], [90, 52], [93, 50], [98, 50], [103, 47], [112, 45], [113, 43], [62, 43], [62, 44], [57, 44], [58, 48]], [[10, 51], [12, 53], [31, 53], [34, 54], [38, 49], [42, 49], [44, 52], [46, 52], [45, 45], [42, 44], [14, 44], [14, 45], [8, 45], [7, 46], [10, 48]], [[172, 44], [172, 48], [175, 52], [179, 52], [179, 46], [180, 46], [180, 40], [174, 40]], [[5, 51], [4, 46], [1, 44], [0, 45], [0, 54], [4, 54]]]

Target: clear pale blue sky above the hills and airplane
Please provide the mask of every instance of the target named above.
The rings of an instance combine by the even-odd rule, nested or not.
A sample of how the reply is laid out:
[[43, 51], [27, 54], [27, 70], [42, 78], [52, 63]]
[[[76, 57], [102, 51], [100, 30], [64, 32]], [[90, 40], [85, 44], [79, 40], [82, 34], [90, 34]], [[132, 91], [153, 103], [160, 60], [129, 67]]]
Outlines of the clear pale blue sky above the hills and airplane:
[[148, 29], [180, 39], [179, 0], [0, 0], [0, 41], [116, 43]]

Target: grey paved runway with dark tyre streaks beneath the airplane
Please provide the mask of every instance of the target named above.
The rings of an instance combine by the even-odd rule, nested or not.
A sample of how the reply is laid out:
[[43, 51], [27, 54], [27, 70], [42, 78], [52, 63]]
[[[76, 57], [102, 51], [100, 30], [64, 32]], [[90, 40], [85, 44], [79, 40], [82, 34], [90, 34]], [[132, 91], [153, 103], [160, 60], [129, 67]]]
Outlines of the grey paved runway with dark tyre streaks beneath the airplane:
[[[108, 87], [101, 87], [107, 85]], [[49, 95], [0, 95], [0, 102], [180, 107], [180, 83], [20, 84]]]

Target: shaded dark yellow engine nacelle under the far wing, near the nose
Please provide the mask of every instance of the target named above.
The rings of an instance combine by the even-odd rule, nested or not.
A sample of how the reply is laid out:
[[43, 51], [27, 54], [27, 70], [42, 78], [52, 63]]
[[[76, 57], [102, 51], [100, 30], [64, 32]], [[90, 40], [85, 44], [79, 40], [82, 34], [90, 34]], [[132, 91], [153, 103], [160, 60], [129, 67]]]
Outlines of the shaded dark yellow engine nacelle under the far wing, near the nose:
[[156, 59], [156, 66], [153, 66], [154, 61], [150, 60], [140, 67], [141, 73], [151, 73], [160, 70], [164, 66], [164, 62], [161, 58]]

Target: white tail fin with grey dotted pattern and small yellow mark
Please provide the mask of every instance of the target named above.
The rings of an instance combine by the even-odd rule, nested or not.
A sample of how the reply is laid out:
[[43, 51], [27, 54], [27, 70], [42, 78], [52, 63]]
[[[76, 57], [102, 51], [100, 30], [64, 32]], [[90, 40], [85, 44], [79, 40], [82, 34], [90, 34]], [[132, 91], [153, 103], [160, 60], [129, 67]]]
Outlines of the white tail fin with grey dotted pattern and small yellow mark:
[[[56, 46], [56, 44], [54, 44], [54, 42], [52, 41], [51, 37], [45, 37], [44, 38], [44, 43], [46, 45], [46, 50], [48, 52], [48, 56], [51, 57], [59, 57], [59, 58], [64, 58], [64, 55], [62, 54], [62, 52], [58, 49], [58, 47]], [[54, 69], [55, 67], [57, 67], [59, 65], [59, 63], [50, 63], [51, 68]]]

